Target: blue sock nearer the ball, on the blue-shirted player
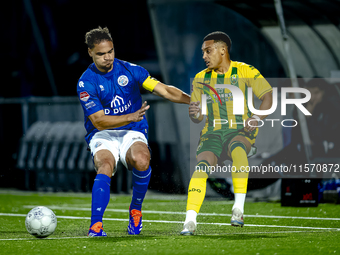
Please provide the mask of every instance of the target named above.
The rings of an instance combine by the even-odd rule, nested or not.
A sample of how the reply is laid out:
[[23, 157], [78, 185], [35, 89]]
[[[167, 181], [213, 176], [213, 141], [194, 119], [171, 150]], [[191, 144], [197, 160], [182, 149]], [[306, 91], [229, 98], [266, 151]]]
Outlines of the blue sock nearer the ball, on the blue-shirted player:
[[111, 178], [105, 174], [97, 174], [92, 188], [91, 226], [103, 221], [105, 209], [110, 201]]

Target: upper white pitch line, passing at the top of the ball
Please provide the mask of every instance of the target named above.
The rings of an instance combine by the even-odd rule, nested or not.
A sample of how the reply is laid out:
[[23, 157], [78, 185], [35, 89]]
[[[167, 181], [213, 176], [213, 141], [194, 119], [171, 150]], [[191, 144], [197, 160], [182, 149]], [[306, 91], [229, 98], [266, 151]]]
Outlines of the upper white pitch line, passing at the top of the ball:
[[[33, 208], [37, 205], [24, 205], [24, 208]], [[69, 211], [91, 211], [91, 208], [81, 208], [81, 207], [63, 207], [63, 206], [47, 206], [50, 209], [54, 210], [69, 210]], [[107, 208], [106, 212], [118, 212], [118, 213], [129, 213], [127, 209], [110, 209]], [[169, 212], [169, 211], [153, 211], [153, 210], [143, 210], [143, 213], [154, 213], [154, 214], [179, 214], [185, 215], [185, 212]], [[223, 217], [231, 217], [231, 214], [224, 213], [200, 213], [201, 216], [223, 216]], [[252, 215], [245, 214], [244, 217], [249, 218], [272, 218], [272, 219], [300, 219], [300, 220], [334, 220], [338, 221], [340, 218], [319, 218], [319, 217], [300, 217], [300, 216], [278, 216], [278, 215]]]

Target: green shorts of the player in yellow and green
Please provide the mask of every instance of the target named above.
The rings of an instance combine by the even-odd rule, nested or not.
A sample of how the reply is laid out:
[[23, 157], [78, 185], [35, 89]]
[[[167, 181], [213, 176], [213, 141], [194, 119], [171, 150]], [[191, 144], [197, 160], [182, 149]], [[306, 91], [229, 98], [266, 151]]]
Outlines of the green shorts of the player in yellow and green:
[[[229, 132], [228, 132], [229, 131]], [[248, 157], [253, 156], [256, 153], [255, 139], [257, 136], [256, 132], [245, 132], [243, 130], [233, 131], [230, 130], [217, 130], [210, 131], [201, 136], [196, 151], [196, 156], [204, 151], [211, 151], [217, 158], [229, 159], [228, 157], [228, 146], [230, 141], [238, 135], [244, 136], [251, 144], [252, 149], [250, 150]]]

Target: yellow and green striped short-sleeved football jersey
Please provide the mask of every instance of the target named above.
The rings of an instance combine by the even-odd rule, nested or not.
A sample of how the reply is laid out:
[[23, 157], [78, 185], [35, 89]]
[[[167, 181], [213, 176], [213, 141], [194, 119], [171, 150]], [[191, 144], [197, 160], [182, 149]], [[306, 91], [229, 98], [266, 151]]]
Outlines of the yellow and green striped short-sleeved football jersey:
[[[227, 88], [216, 88], [216, 84], [230, 84], [237, 86], [242, 91], [244, 95], [243, 115], [233, 114], [233, 94]], [[196, 74], [192, 86], [192, 102], [202, 102], [202, 95], [207, 95], [207, 118], [202, 135], [221, 129], [226, 132], [235, 132], [242, 129], [244, 127], [243, 121], [252, 116], [252, 113], [248, 109], [247, 88], [251, 87], [253, 95], [257, 98], [261, 98], [267, 92], [272, 91], [272, 87], [256, 68], [236, 61], [231, 61], [229, 70], [225, 74], [218, 74], [211, 69], [205, 69], [199, 72]], [[212, 89], [214, 91], [212, 91]], [[219, 97], [217, 97], [216, 94], [218, 94]], [[228, 124], [222, 124], [223, 122], [221, 123], [221, 121], [214, 122], [214, 120], [217, 119], [227, 120]], [[257, 131], [256, 129], [256, 133]]]

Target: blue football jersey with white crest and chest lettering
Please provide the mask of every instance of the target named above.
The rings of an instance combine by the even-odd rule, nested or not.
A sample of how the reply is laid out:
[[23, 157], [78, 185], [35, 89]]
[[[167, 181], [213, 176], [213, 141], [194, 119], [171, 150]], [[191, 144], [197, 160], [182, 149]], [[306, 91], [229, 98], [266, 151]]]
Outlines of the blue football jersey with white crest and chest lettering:
[[[84, 110], [85, 140], [88, 144], [99, 131], [89, 116], [100, 110], [106, 115], [136, 112], [142, 106], [140, 87], [148, 77], [149, 73], [143, 67], [116, 58], [108, 73], [100, 72], [94, 63], [87, 68], [78, 81], [77, 93]], [[140, 131], [147, 137], [148, 128], [144, 116], [139, 122], [131, 122], [114, 130]]]

